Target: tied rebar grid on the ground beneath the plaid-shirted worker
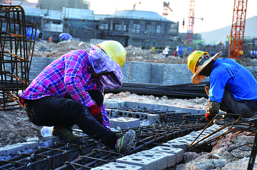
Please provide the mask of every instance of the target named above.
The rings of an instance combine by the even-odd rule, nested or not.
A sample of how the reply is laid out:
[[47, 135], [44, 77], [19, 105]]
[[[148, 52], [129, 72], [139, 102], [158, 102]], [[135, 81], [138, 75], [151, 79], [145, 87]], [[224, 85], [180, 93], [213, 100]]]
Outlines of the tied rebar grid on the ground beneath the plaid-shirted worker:
[[[156, 144], [165, 143], [169, 140], [187, 135], [193, 131], [204, 129], [207, 124], [196, 123], [182, 126], [155, 124], [133, 128], [136, 131], [136, 139], [133, 150], [121, 155], [108, 146], [87, 138], [81, 145], [56, 143], [50, 147], [40, 147], [34, 152], [21, 154], [17, 157], [0, 161], [0, 169], [90, 169], [101, 166], [117, 159], [155, 147]], [[125, 133], [130, 129], [122, 129]], [[116, 133], [120, 133], [116, 132]], [[100, 147], [97, 148], [97, 147]], [[83, 153], [83, 149], [93, 147]], [[91, 152], [91, 153], [90, 153]], [[71, 156], [72, 155], [72, 156]], [[72, 158], [71, 158], [72, 157]], [[56, 160], [61, 160], [61, 167], [54, 167]]]

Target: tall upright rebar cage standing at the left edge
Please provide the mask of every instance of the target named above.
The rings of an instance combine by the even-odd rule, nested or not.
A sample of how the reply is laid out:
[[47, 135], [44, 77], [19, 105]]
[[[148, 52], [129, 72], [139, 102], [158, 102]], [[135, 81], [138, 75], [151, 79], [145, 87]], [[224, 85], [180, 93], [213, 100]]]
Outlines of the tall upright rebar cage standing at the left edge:
[[0, 110], [19, 105], [19, 94], [28, 87], [35, 35], [36, 25], [25, 20], [21, 6], [0, 6]]

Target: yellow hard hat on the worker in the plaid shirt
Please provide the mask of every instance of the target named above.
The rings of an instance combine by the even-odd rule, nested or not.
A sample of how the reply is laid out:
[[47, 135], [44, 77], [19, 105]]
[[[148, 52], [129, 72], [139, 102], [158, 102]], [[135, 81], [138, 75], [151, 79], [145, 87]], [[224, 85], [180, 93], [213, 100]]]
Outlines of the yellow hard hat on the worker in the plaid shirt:
[[99, 43], [98, 47], [122, 67], [126, 61], [126, 50], [118, 41], [107, 40]]

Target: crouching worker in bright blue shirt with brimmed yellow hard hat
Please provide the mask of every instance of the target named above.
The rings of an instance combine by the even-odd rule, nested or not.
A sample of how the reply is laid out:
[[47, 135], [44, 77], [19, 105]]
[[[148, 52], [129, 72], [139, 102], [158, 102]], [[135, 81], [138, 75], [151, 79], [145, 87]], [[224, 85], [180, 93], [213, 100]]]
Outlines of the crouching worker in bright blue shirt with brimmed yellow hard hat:
[[[188, 67], [193, 72], [192, 82], [199, 83], [210, 77], [205, 87], [209, 95], [206, 119], [212, 120], [219, 109], [228, 114], [250, 118], [257, 114], [257, 82], [243, 66], [230, 58], [218, 58], [222, 52], [210, 57], [208, 52], [194, 51], [188, 56]], [[238, 116], [225, 115], [214, 119], [215, 124], [234, 122]]]

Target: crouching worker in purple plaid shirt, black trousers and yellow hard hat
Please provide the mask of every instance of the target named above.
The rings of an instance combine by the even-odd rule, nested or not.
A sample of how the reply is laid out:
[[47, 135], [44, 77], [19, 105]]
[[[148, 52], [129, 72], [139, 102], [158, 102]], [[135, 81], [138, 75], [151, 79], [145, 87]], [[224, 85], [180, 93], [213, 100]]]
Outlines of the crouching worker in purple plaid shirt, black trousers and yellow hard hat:
[[121, 87], [120, 68], [126, 58], [117, 41], [104, 41], [86, 50], [71, 51], [47, 66], [21, 94], [20, 102], [32, 123], [54, 126], [53, 136], [69, 142], [83, 142], [74, 134], [77, 124], [88, 136], [123, 154], [131, 149], [135, 131], [116, 134], [110, 131], [103, 104], [103, 88]]

